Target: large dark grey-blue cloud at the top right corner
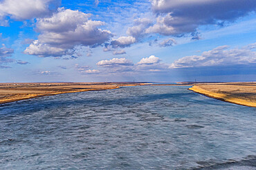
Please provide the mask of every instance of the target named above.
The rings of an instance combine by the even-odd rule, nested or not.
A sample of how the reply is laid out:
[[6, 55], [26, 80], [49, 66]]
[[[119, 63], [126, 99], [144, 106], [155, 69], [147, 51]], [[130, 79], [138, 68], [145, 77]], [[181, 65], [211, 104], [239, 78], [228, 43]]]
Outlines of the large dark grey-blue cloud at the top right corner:
[[163, 35], [195, 32], [199, 25], [223, 25], [225, 21], [235, 21], [256, 9], [255, 0], [152, 0], [151, 2], [154, 12], [166, 15], [159, 17], [157, 23], [147, 32]]

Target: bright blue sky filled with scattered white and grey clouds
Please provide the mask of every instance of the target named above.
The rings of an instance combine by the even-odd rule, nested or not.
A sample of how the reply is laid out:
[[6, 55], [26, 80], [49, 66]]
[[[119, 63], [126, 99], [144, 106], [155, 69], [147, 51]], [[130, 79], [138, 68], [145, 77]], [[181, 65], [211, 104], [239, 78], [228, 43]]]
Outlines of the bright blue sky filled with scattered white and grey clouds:
[[0, 0], [0, 82], [256, 81], [255, 0]]

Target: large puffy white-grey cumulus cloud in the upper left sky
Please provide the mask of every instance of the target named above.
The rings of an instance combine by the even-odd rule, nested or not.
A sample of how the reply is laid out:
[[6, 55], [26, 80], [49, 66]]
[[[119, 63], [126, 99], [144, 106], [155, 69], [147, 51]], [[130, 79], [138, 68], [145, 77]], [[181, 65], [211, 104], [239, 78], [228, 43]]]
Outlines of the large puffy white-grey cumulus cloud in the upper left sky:
[[74, 54], [76, 45], [97, 46], [111, 37], [109, 30], [101, 30], [102, 21], [89, 20], [90, 14], [78, 10], [59, 8], [53, 16], [38, 19], [38, 39], [24, 51], [38, 56]]

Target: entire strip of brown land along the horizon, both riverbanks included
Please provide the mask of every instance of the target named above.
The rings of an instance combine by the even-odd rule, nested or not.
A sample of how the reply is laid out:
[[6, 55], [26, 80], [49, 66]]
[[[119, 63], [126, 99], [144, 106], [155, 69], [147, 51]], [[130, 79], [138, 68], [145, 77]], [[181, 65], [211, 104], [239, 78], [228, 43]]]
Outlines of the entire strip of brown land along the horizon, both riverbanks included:
[[121, 86], [192, 86], [191, 91], [228, 103], [256, 107], [256, 83], [0, 83], [0, 104], [57, 94], [118, 89]]

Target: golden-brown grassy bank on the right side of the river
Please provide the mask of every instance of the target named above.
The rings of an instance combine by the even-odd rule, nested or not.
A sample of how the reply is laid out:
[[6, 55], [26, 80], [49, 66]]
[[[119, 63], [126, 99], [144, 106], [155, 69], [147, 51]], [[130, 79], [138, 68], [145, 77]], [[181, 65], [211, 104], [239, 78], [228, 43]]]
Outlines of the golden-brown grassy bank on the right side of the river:
[[190, 90], [229, 103], [256, 107], [256, 83], [196, 83]]

